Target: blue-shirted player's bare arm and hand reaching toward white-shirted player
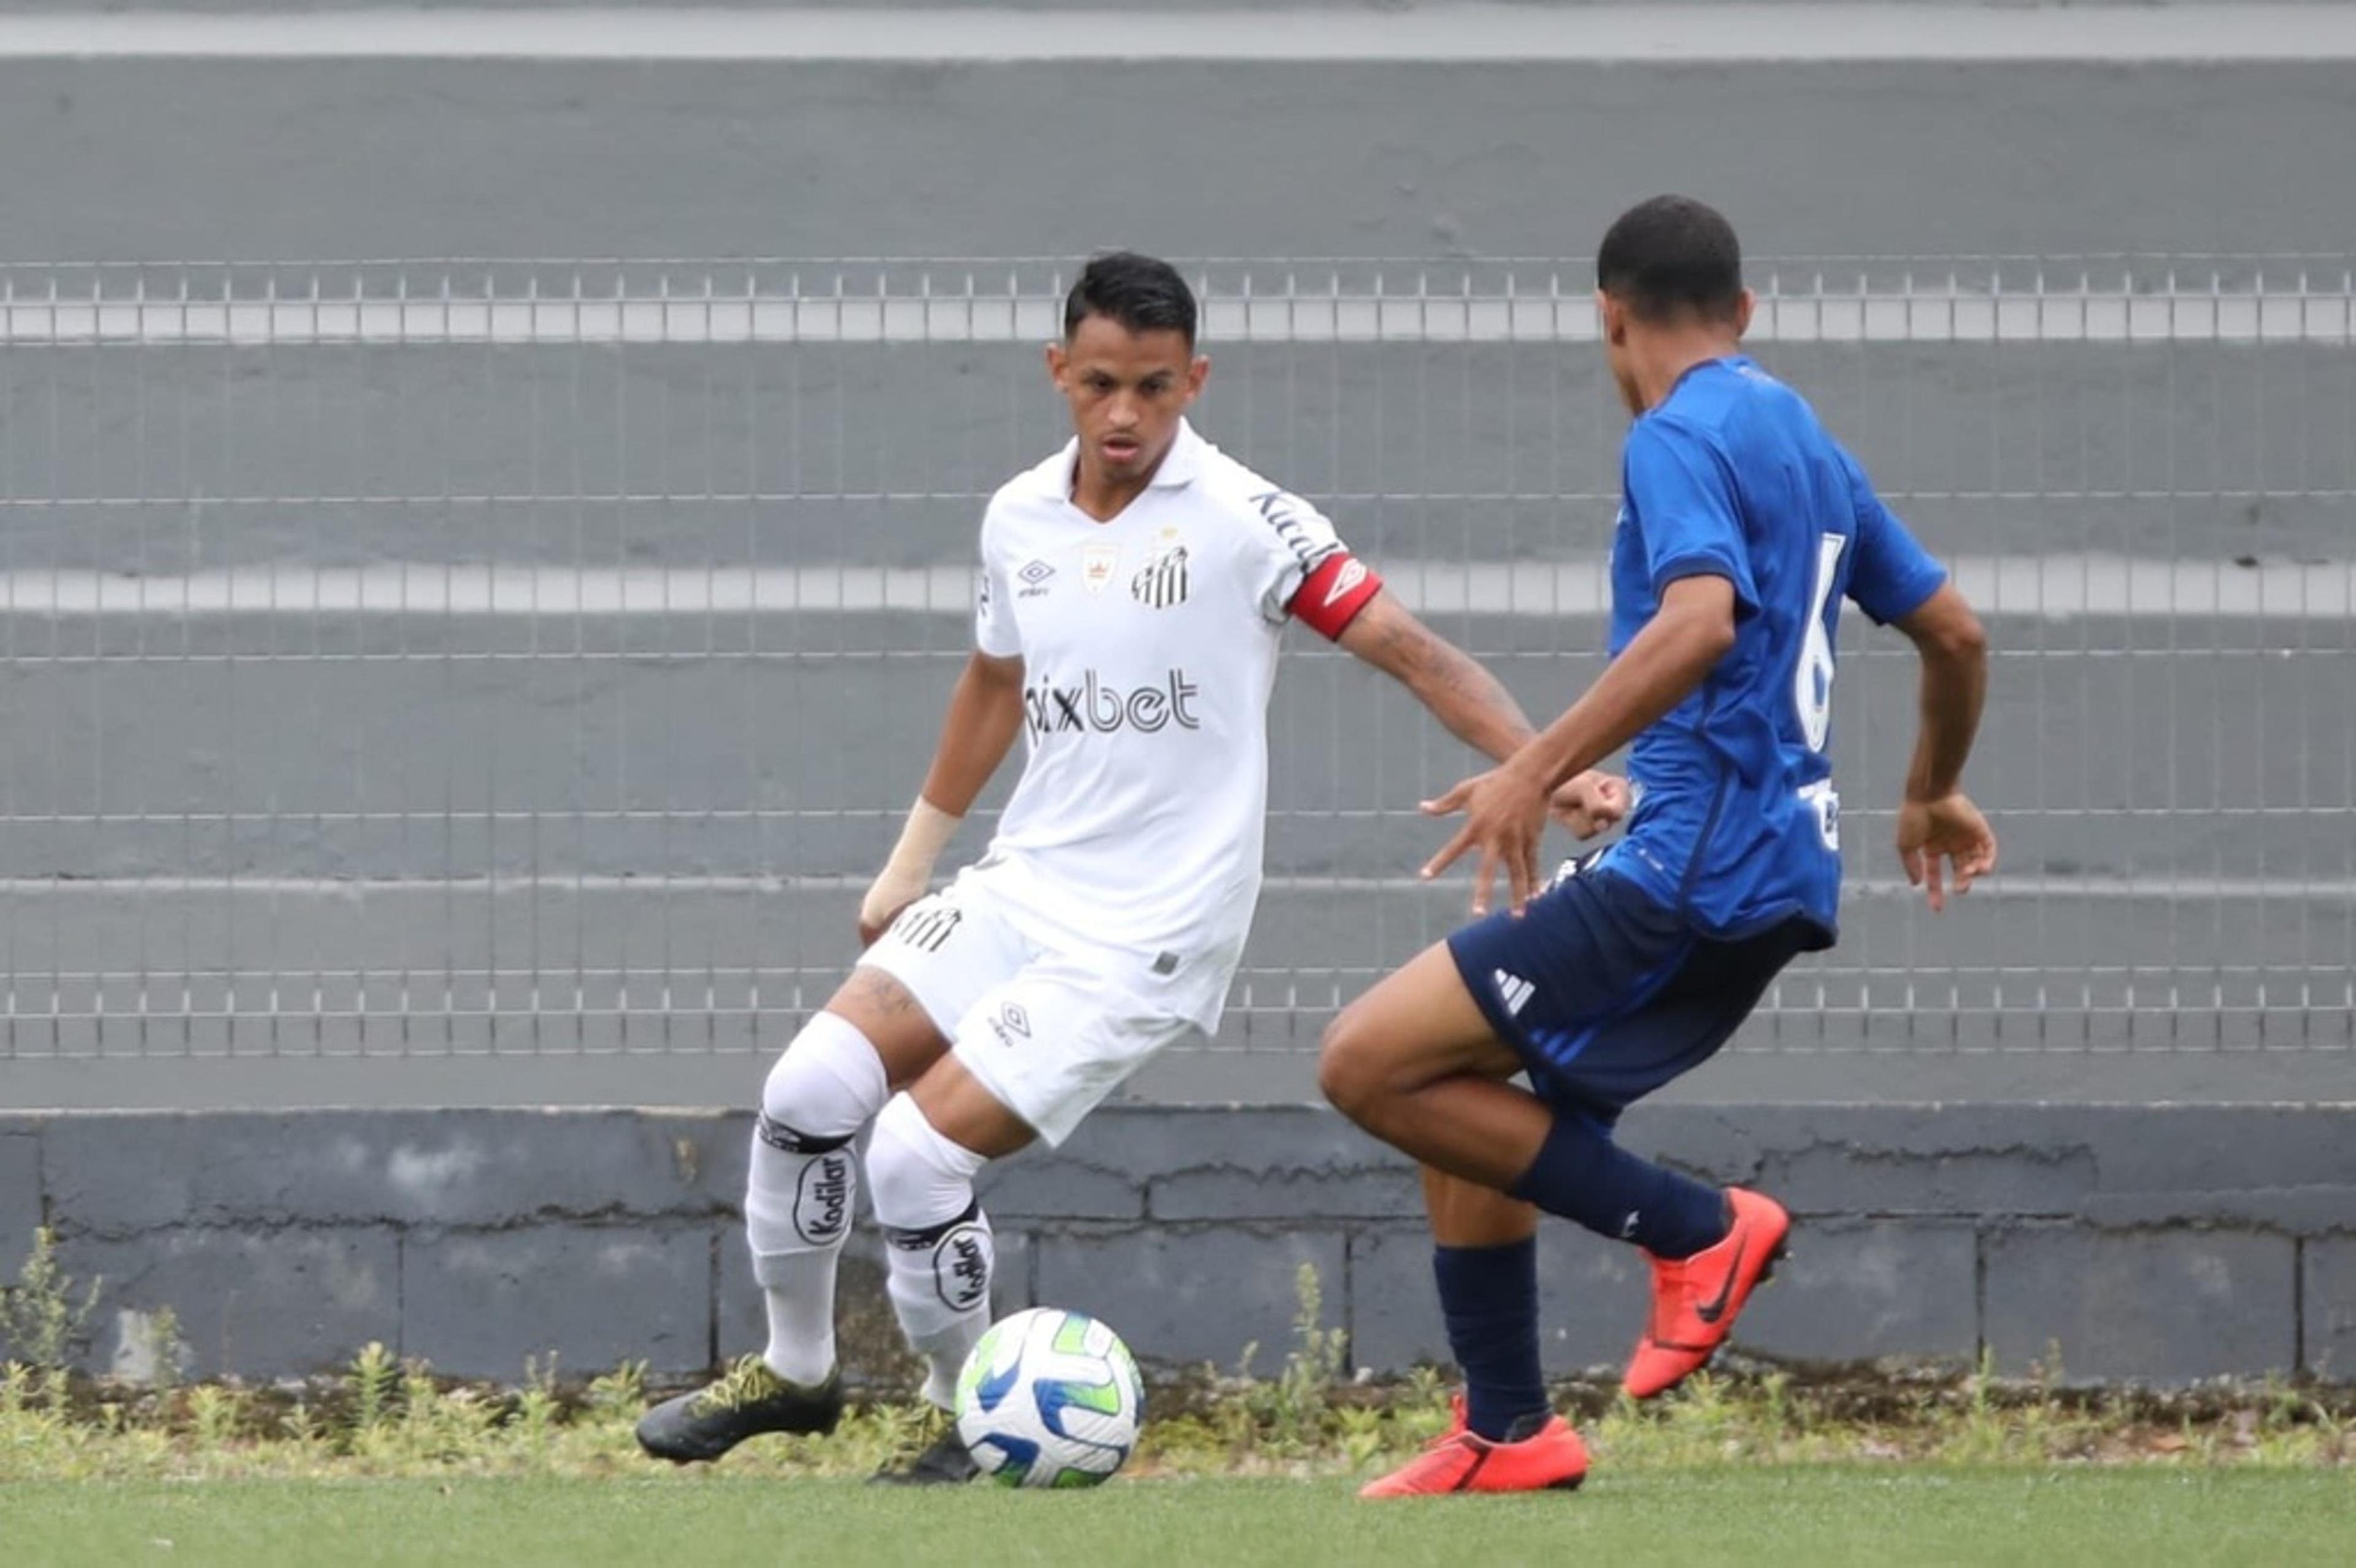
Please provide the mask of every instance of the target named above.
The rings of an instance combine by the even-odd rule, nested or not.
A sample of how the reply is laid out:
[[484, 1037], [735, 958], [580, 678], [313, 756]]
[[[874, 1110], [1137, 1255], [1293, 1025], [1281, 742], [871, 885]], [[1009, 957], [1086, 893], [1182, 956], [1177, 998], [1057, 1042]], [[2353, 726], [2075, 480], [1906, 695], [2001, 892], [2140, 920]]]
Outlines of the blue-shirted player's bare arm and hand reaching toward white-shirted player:
[[1498, 768], [1423, 803], [1432, 817], [1465, 815], [1463, 829], [1423, 866], [1423, 876], [1440, 876], [1477, 850], [1472, 913], [1489, 911], [1498, 871], [1520, 911], [1538, 890], [1538, 838], [1553, 791], [1685, 702], [1729, 647], [1734, 584], [1708, 574], [1670, 582], [1661, 591], [1661, 610], [1562, 718]]

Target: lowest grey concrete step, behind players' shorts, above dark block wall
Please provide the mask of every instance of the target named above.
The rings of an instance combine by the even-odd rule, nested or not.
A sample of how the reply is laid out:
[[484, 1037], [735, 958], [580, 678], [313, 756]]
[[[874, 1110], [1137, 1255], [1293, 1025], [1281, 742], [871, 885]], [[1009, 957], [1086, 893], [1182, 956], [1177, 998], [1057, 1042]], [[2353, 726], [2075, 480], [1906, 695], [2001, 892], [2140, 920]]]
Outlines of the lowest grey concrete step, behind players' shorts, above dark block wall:
[[[1946, 916], [1859, 855], [1845, 942], [1793, 968], [1760, 1050], [2351, 1050], [2335, 885], [2007, 876]], [[1463, 921], [1465, 883], [1279, 878], [1218, 1038], [1303, 1052]], [[728, 1055], [792, 1038], [855, 961], [841, 883], [9, 885], [5, 1055]], [[5, 1078], [7, 1071], [0, 1071]]]

